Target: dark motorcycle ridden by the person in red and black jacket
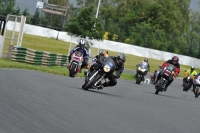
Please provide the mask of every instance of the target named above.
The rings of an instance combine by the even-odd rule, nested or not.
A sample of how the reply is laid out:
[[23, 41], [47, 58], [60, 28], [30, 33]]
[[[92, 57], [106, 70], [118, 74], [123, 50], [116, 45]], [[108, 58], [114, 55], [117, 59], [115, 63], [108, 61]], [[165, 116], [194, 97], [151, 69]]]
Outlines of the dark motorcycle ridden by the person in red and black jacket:
[[169, 80], [173, 79], [174, 76], [174, 71], [175, 71], [176, 67], [172, 64], [168, 64], [165, 68], [163, 68], [160, 71], [160, 79], [158, 80], [157, 84], [155, 84], [155, 94], [158, 94], [159, 92], [162, 92], [163, 90], [165, 90], [165, 86], [167, 85]]

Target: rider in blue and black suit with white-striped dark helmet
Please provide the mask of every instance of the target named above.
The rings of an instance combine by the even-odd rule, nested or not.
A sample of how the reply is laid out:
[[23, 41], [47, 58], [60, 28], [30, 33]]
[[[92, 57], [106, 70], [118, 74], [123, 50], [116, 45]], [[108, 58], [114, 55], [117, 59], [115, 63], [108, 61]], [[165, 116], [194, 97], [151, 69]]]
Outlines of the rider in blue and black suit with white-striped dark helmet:
[[[86, 42], [85, 40], [80, 40], [79, 41], [79, 44], [70, 51], [70, 55], [69, 55], [69, 60], [68, 62], [70, 62], [71, 60], [71, 55], [75, 52], [75, 51], [80, 51], [81, 53], [83, 53], [83, 58], [84, 58], [84, 61], [81, 65], [81, 70], [83, 67], [86, 67], [88, 65], [88, 59], [89, 59], [89, 52], [88, 52], [88, 48], [86, 47]], [[80, 70], [80, 72], [81, 72]]]

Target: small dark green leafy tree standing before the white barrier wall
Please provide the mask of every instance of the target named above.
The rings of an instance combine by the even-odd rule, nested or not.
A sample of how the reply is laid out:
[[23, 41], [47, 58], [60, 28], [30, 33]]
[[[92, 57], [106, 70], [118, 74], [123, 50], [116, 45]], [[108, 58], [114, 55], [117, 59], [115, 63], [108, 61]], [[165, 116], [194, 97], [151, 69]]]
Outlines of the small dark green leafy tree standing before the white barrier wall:
[[70, 23], [66, 27], [67, 32], [82, 38], [102, 40], [102, 25], [94, 17], [94, 14], [94, 6], [82, 8], [77, 17], [70, 19]]

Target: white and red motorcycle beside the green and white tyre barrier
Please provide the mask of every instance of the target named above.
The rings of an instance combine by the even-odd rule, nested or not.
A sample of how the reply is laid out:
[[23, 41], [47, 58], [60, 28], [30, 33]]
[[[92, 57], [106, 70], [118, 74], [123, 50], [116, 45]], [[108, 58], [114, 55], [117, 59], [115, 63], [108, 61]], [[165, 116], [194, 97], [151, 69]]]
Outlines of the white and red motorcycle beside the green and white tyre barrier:
[[74, 77], [81, 70], [82, 63], [83, 63], [83, 53], [75, 51], [71, 55], [71, 61], [68, 66], [70, 77]]

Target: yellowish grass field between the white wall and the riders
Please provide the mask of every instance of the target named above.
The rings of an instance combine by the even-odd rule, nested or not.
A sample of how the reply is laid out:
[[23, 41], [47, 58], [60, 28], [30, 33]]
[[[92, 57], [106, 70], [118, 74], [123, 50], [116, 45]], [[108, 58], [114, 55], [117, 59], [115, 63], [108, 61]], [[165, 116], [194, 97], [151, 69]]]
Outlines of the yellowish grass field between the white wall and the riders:
[[[15, 39], [17, 39], [17, 34], [15, 34]], [[11, 38], [11, 32], [7, 31], [6, 37]], [[5, 40], [5, 45], [3, 49], [3, 54], [8, 53], [8, 47], [10, 45], [10, 40], [6, 39]], [[16, 41], [13, 41], [13, 45], [16, 45]], [[44, 38], [40, 36], [33, 36], [29, 34], [24, 34], [23, 37], [23, 42], [22, 42], [23, 47], [35, 49], [35, 50], [40, 50], [40, 51], [47, 51], [47, 52], [53, 52], [53, 53], [60, 53], [60, 54], [68, 54], [69, 51], [69, 42], [64, 42], [60, 40], [56, 40], [55, 38]], [[72, 48], [75, 47], [75, 44], [72, 44]], [[94, 57], [98, 52], [97, 48], [91, 48], [91, 56]], [[116, 56], [118, 55], [117, 52], [114, 51], [109, 51], [109, 56]], [[125, 63], [125, 68], [127, 69], [136, 69], [136, 64], [140, 63], [144, 57], [138, 57], [130, 54], [126, 54], [127, 61]], [[169, 57], [171, 58], [171, 57]], [[155, 60], [155, 59], [149, 59], [149, 63], [151, 66], [150, 72], [154, 72], [156, 69], [158, 69], [158, 65], [161, 65], [163, 61], [161, 60]], [[185, 66], [181, 65], [181, 72], [180, 72], [180, 77], [184, 76], [184, 71], [190, 69], [190, 66]], [[200, 72], [200, 69], [196, 69], [197, 72]]]

